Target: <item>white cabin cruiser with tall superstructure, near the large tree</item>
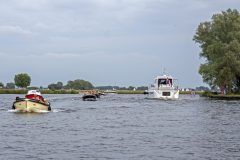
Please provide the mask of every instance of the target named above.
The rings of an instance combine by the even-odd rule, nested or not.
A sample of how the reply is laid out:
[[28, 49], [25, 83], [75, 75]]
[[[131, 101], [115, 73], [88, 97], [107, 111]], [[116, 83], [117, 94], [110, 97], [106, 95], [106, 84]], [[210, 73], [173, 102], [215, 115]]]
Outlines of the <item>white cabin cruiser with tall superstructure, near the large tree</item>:
[[174, 84], [175, 80], [168, 75], [157, 76], [148, 92], [153, 93], [151, 96], [154, 99], [176, 100], [179, 98], [179, 90]]

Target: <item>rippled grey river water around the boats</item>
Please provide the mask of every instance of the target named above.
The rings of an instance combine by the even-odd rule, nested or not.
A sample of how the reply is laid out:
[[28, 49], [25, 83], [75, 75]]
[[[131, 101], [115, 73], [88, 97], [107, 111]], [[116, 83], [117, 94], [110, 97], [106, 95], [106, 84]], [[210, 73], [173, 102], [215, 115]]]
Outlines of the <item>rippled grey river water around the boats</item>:
[[45, 95], [49, 113], [15, 113], [0, 95], [0, 159], [240, 159], [240, 101]]

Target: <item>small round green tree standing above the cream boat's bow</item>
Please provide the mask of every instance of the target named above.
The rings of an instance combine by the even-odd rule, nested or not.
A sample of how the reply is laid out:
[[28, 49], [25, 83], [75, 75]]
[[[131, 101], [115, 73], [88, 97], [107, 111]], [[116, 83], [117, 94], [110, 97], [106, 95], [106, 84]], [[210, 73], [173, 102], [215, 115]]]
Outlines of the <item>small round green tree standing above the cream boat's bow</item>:
[[26, 88], [31, 84], [31, 77], [27, 73], [20, 73], [15, 75], [15, 85], [21, 88]]

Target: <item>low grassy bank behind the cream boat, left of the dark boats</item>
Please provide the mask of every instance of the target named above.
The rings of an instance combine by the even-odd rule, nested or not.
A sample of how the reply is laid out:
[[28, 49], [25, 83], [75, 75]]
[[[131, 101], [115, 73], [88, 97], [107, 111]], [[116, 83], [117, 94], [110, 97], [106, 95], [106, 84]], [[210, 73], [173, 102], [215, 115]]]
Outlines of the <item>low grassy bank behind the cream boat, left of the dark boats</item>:
[[[0, 89], [0, 94], [27, 94], [26, 89]], [[78, 90], [40, 90], [42, 94], [78, 94]]]

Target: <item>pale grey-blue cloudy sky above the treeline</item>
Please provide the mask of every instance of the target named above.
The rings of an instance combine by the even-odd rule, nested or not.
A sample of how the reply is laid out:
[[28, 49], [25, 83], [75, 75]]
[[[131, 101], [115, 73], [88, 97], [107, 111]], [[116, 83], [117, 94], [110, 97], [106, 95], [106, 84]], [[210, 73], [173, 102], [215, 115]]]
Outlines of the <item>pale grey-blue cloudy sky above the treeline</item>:
[[146, 86], [165, 68], [180, 87], [200, 86], [193, 35], [228, 8], [239, 0], [0, 0], [0, 82]]

